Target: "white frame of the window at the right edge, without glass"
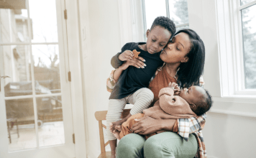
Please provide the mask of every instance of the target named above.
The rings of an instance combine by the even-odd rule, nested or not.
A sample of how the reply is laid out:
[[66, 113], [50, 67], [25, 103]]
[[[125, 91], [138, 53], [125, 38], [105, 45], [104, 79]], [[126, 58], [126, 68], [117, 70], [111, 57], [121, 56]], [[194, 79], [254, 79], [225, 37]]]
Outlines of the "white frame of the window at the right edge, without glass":
[[242, 9], [256, 0], [240, 5], [240, 0], [216, 0], [221, 97], [256, 97], [256, 89], [245, 89]]

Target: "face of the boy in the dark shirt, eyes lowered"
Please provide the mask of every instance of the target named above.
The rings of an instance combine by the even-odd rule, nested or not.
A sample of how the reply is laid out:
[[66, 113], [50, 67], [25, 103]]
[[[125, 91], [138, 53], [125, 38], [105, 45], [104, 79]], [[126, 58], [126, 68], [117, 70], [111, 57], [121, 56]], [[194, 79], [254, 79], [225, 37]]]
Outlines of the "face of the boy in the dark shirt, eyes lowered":
[[156, 26], [147, 31], [147, 52], [154, 54], [163, 50], [170, 40], [170, 32], [164, 27]]

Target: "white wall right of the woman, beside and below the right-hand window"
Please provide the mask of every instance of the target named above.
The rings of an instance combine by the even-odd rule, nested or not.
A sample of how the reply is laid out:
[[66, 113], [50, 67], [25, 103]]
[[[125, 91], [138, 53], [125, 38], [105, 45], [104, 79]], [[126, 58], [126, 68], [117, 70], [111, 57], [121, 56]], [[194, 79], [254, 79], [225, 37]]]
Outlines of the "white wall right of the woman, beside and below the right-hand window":
[[[206, 46], [204, 88], [209, 90], [214, 100], [203, 130], [207, 155], [255, 157], [255, 101], [249, 101], [247, 98], [221, 97], [218, 29], [222, 28], [217, 25], [216, 1], [188, 1], [190, 28], [198, 32]], [[224, 4], [223, 1], [226, 0], [218, 0], [220, 4]]]

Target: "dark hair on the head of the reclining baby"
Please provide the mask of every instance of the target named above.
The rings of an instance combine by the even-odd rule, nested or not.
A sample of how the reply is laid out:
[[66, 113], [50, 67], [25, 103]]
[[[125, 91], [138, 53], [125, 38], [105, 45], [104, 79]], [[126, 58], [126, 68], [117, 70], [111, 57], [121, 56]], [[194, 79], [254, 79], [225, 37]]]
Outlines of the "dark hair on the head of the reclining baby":
[[201, 97], [201, 101], [196, 103], [196, 109], [193, 110], [194, 113], [196, 113], [197, 116], [201, 116], [211, 108], [211, 95], [209, 94], [209, 91], [206, 90], [206, 96]]

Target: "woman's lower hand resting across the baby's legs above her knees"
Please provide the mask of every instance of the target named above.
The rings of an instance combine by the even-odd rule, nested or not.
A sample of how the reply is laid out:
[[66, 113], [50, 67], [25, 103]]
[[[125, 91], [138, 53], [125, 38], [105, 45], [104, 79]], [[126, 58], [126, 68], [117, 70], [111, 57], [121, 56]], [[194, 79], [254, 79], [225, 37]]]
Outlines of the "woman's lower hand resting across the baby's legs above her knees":
[[132, 126], [134, 134], [152, 134], [163, 129], [160, 119], [152, 119], [152, 117], [145, 116], [137, 120], [138, 122]]

